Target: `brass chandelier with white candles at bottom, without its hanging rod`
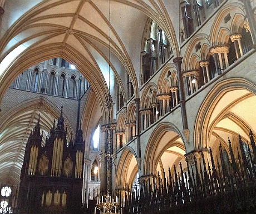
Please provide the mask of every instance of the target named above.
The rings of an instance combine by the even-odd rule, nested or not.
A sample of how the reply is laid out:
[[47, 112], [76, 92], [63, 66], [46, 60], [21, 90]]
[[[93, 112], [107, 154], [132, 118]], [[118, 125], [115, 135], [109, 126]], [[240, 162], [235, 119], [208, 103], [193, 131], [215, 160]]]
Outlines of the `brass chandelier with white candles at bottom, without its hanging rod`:
[[[118, 210], [118, 214], [120, 214], [120, 203], [119, 203], [119, 198], [116, 196], [116, 200], [114, 200], [114, 198], [112, 198], [111, 201], [111, 195], [109, 194], [109, 191], [107, 191], [107, 195], [97, 197], [97, 204], [94, 210], [94, 213], [96, 213], [96, 208], [98, 210], [100, 210], [100, 213], [104, 214], [117, 214], [117, 210]], [[115, 212], [112, 212], [114, 211]], [[121, 213], [122, 213], [122, 209], [121, 209]]]

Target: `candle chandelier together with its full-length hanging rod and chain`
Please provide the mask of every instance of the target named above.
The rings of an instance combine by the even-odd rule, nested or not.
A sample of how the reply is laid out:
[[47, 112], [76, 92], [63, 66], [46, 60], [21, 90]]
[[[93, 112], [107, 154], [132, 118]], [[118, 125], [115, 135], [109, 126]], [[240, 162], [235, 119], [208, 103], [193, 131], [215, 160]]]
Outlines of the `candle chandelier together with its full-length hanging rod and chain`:
[[[116, 198], [112, 198], [111, 200], [111, 195], [110, 195], [110, 166], [112, 165], [112, 158], [115, 158], [113, 154], [111, 154], [111, 150], [110, 150], [110, 143], [112, 143], [111, 141], [111, 135], [110, 135], [110, 110], [113, 106], [113, 101], [112, 101], [112, 97], [110, 95], [110, 51], [111, 51], [111, 47], [110, 47], [110, 32], [111, 32], [111, 25], [110, 25], [110, 1], [109, 0], [109, 94], [107, 94], [106, 97], [106, 101], [105, 104], [107, 106], [108, 109], [108, 127], [107, 127], [107, 142], [106, 142], [106, 147], [107, 147], [107, 152], [104, 154], [106, 157], [106, 167], [107, 167], [107, 171], [106, 171], [106, 179], [107, 179], [107, 193], [105, 196], [101, 196], [101, 197], [97, 197], [97, 203], [95, 206], [95, 211], [94, 213], [106, 213], [106, 214], [117, 214], [120, 213], [120, 203], [119, 203], [119, 198], [116, 196]], [[99, 212], [97, 212], [97, 210], [99, 210]], [[122, 213], [122, 209], [121, 209], [121, 213]]]

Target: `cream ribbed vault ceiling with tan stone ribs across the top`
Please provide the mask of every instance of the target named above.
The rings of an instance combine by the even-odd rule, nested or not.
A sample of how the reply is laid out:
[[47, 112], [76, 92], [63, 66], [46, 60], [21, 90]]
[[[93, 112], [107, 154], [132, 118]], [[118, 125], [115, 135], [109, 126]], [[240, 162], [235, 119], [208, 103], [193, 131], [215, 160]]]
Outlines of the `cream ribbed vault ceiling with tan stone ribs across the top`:
[[[166, 0], [111, 0], [110, 33], [113, 72], [111, 72], [111, 80], [114, 79], [115, 73], [123, 88], [125, 84], [124, 73], [127, 71], [134, 85], [135, 96], [139, 96], [139, 72], [135, 72], [135, 70], [140, 67], [138, 59], [140, 58], [141, 35], [147, 17], [153, 19], [164, 29], [175, 55], [179, 56], [178, 43], [169, 16], [176, 7], [178, 4], [173, 2], [170, 5], [170, 2]], [[17, 14], [14, 16], [13, 9], [27, 13], [24, 13], [22, 17], [18, 17]], [[105, 84], [109, 83], [108, 0], [32, 0], [20, 6], [14, 2], [12, 4], [12, 1], [7, 1], [6, 13], [8, 12], [10, 13], [9, 17], [6, 16], [9, 18], [8, 22], [3, 20], [3, 23], [7, 24], [3, 26], [6, 33], [0, 41], [1, 81], [5, 80], [3, 77], [8, 73], [8, 66], [13, 62], [13, 59], [19, 54], [22, 56], [26, 49], [35, 51], [39, 47], [52, 47], [54, 44], [59, 47], [58, 56], [65, 59], [71, 58], [68, 49], [72, 47], [76, 50], [77, 55], [86, 59], [87, 64], [90, 65], [88, 67], [99, 72], [99, 74], [95, 72], [95, 76], [93, 76], [98, 79], [98, 83], [102, 81]], [[3, 34], [3, 32], [1, 33]], [[48, 55], [52, 55], [51, 50]], [[47, 58], [51, 57], [48, 56]], [[38, 61], [42, 60], [38, 59]], [[72, 63], [77, 66], [77, 59]], [[81, 70], [80, 72], [83, 73]], [[90, 75], [84, 76], [89, 80]], [[90, 84], [93, 86], [92, 82]], [[4, 89], [6, 88], [1, 88], [3, 91]]]

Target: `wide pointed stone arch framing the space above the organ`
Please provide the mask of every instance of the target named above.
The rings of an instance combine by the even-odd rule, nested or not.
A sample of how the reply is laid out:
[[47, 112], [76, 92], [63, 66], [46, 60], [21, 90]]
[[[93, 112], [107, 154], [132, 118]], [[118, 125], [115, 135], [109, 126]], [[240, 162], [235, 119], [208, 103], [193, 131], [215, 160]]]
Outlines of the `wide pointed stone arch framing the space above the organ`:
[[[9, 87], [9, 85], [14, 81], [14, 79], [20, 74], [22, 71], [27, 68], [33, 66], [35, 63], [40, 63], [47, 59], [61, 57], [71, 62], [76, 66], [76, 68], [85, 76], [85, 78], [90, 83], [93, 91], [95, 91], [96, 96], [100, 102], [100, 107], [102, 111], [102, 119], [107, 121], [107, 109], [104, 101], [106, 99], [106, 95], [109, 93], [107, 84], [102, 76], [99, 68], [94, 67], [87, 59], [81, 56], [81, 53], [77, 52], [73, 47], [66, 45], [65, 49], [63, 49], [60, 44], [55, 43], [52, 44], [51, 47], [48, 45], [41, 46], [40, 48], [31, 48], [26, 50], [21, 56], [16, 58], [16, 61], [11, 64], [10, 67], [2, 75], [0, 79], [3, 84], [0, 86], [1, 94], [4, 94]], [[20, 71], [17, 73], [17, 71]], [[2, 100], [2, 96], [0, 97], [0, 102]], [[111, 118], [112, 118], [111, 111]]]

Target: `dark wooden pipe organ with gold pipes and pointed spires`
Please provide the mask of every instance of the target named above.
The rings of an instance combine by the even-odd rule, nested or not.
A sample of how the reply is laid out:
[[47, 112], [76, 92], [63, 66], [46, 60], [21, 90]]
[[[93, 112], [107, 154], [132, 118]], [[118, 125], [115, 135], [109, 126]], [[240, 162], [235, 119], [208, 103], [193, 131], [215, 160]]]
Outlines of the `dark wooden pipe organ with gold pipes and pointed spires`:
[[67, 142], [64, 119], [58, 118], [42, 146], [40, 117], [28, 138], [21, 170], [19, 213], [80, 213], [85, 141], [81, 125]]

